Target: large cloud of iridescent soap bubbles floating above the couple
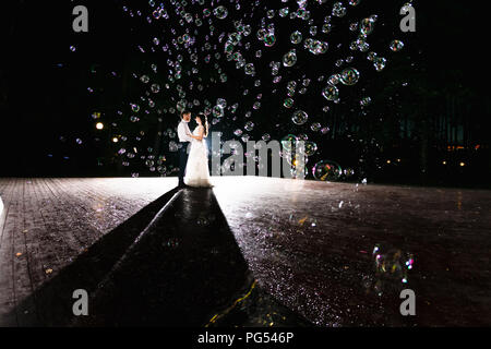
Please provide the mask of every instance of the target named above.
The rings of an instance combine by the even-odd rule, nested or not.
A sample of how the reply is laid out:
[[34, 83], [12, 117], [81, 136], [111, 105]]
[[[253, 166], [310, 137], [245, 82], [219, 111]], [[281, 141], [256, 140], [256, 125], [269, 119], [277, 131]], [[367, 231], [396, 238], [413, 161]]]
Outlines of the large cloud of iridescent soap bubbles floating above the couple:
[[161, 176], [176, 172], [166, 155], [178, 152], [179, 113], [190, 109], [207, 116], [212, 131], [219, 130], [226, 140], [306, 141], [308, 158], [318, 157], [307, 167], [308, 176], [352, 178], [352, 168], [322, 159], [328, 157], [320, 144], [330, 134], [330, 115], [342, 105], [371, 106], [376, 91], [367, 96], [360, 86], [370, 73], [367, 61], [382, 72], [386, 52], [404, 48], [394, 38], [383, 49], [372, 47], [381, 22], [378, 4], [360, 3], [125, 2], [123, 15], [133, 32], [145, 35], [132, 43], [142, 59], [131, 72], [130, 100], [122, 100], [112, 122], [122, 166], [140, 164], [141, 171]]

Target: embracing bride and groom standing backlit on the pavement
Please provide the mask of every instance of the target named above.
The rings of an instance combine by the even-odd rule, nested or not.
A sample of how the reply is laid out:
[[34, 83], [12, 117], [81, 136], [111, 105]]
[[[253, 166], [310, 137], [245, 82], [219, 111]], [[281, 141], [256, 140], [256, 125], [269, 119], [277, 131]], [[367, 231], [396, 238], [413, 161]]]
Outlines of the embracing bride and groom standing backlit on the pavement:
[[208, 136], [208, 122], [206, 116], [202, 113], [197, 115], [194, 120], [197, 127], [191, 133], [188, 125], [191, 121], [191, 112], [188, 110], [181, 112], [181, 122], [178, 125], [179, 188], [212, 188], [208, 171], [208, 147], [205, 141]]

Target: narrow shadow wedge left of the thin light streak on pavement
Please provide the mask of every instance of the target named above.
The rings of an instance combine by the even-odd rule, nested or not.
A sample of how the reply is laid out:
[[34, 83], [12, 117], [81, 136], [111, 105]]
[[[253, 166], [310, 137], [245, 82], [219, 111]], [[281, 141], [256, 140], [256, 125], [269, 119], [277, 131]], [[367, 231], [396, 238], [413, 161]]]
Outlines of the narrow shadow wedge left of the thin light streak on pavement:
[[47, 280], [4, 318], [1, 326], [63, 326], [73, 318], [75, 289], [92, 293], [159, 209], [178, 192], [161, 195], [97, 240], [73, 263]]

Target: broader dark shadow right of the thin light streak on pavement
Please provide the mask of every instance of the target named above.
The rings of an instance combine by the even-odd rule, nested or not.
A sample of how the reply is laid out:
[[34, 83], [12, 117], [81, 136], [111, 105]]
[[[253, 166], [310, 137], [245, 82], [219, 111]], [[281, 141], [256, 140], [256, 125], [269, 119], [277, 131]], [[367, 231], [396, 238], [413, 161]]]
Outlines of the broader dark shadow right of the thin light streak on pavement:
[[[213, 325], [231, 316], [236, 303], [254, 289], [213, 191], [181, 190], [97, 286], [91, 315], [72, 325]], [[282, 322], [300, 318], [273, 299], [266, 306], [283, 312]]]

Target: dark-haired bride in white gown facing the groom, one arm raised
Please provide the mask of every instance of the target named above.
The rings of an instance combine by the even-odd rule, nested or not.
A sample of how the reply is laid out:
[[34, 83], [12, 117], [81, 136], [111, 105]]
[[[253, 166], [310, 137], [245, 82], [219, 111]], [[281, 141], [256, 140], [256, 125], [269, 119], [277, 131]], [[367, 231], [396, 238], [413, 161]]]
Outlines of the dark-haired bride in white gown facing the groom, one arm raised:
[[[206, 127], [203, 125], [202, 119], [205, 119]], [[184, 183], [189, 186], [212, 188], [208, 171], [208, 147], [204, 141], [208, 136], [208, 120], [203, 115], [197, 115], [194, 120], [197, 127], [190, 134], [193, 141], [185, 166]]]

